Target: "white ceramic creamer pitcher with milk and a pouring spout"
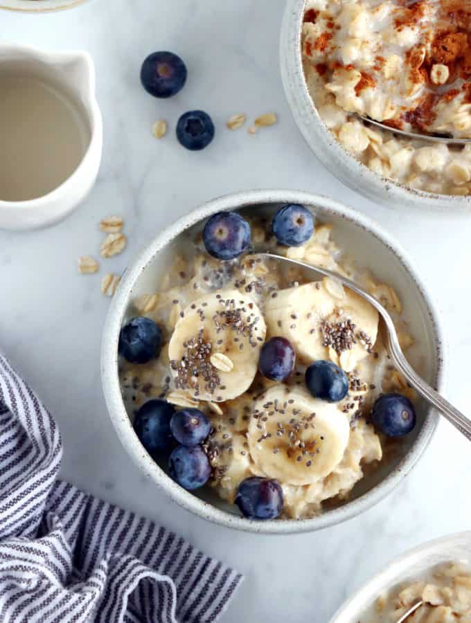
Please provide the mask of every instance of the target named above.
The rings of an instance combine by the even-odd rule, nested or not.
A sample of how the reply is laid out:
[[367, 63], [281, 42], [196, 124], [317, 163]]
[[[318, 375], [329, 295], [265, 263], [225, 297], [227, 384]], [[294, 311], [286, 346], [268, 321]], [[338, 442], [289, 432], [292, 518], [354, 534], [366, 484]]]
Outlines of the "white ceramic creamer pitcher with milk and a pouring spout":
[[[4, 229], [28, 229], [53, 224], [64, 218], [87, 196], [89, 190], [94, 185], [100, 167], [101, 154], [103, 149], [103, 122], [100, 109], [95, 98], [95, 69], [93, 61], [88, 53], [85, 52], [44, 52], [28, 46], [0, 46], [0, 84], [2, 80], [6, 85], [23, 84], [24, 96], [20, 96], [19, 110], [12, 111], [12, 118], [15, 120], [15, 131], [4, 132], [8, 134], [0, 149], [3, 149], [3, 159], [8, 159], [8, 150], [12, 152], [12, 160], [6, 162], [12, 166], [15, 159], [14, 168], [10, 168], [10, 179], [15, 177], [16, 188], [21, 191], [21, 184], [24, 175], [24, 192], [19, 192], [18, 199], [15, 194], [6, 192], [6, 188], [1, 187], [0, 177], [0, 228]], [[21, 82], [23, 81], [23, 82]], [[36, 87], [30, 85], [41, 85], [40, 88], [47, 90], [51, 97], [51, 102], [61, 102], [66, 114], [57, 115], [57, 128], [52, 125], [53, 132], [57, 132], [57, 154], [55, 153], [55, 143], [50, 139], [49, 129], [54, 124], [55, 116], [49, 115], [48, 128], [41, 127], [44, 116], [38, 114], [39, 103], [34, 101]], [[21, 87], [23, 88], [23, 87]], [[6, 98], [8, 89], [0, 89], [0, 97]], [[23, 91], [21, 91], [23, 93]], [[14, 100], [15, 101], [15, 100]], [[45, 100], [46, 101], [46, 100]], [[0, 106], [6, 104], [6, 99], [0, 102]], [[37, 104], [37, 105], [36, 105]], [[44, 102], [41, 102], [44, 113]], [[36, 106], [35, 106], [36, 105]], [[19, 106], [20, 107], [20, 106]], [[17, 107], [17, 108], [19, 108]], [[5, 114], [3, 113], [3, 119]], [[67, 126], [66, 120], [70, 118], [72, 123]], [[24, 123], [23, 123], [24, 119]], [[37, 161], [37, 174], [44, 173], [41, 166], [47, 161], [49, 167], [57, 165], [57, 186], [48, 188], [44, 194], [29, 196], [27, 192], [28, 183], [31, 176], [35, 174], [29, 162], [26, 166], [26, 158], [23, 171], [21, 167], [21, 149], [28, 149], [28, 134], [25, 129], [31, 126], [32, 120], [37, 125], [33, 127], [33, 139], [40, 141], [41, 132], [47, 138], [45, 143], [44, 158], [40, 157], [41, 150], [37, 150], [39, 157]], [[28, 125], [29, 124], [29, 125]], [[13, 125], [12, 125], [13, 127]], [[7, 129], [9, 129], [7, 127]], [[70, 129], [70, 136], [68, 134]], [[17, 134], [15, 134], [15, 132]], [[22, 143], [17, 143], [23, 141]], [[73, 149], [77, 152], [76, 165], [71, 161], [71, 168], [67, 170], [66, 177], [60, 178], [59, 170], [64, 169], [61, 160], [62, 150], [67, 150], [67, 141], [75, 141]], [[34, 145], [37, 148], [37, 144]], [[40, 145], [39, 145], [40, 147]], [[29, 153], [27, 154], [30, 155]], [[70, 155], [70, 154], [68, 154]], [[34, 164], [34, 163], [33, 163]], [[51, 172], [51, 179], [54, 179], [54, 171]], [[5, 175], [5, 173], [3, 173]], [[62, 174], [62, 173], [61, 173]], [[4, 177], [3, 184], [8, 186], [9, 179]], [[10, 196], [12, 195], [12, 196]], [[2, 198], [3, 197], [3, 198]], [[24, 198], [26, 197], [26, 199]]]

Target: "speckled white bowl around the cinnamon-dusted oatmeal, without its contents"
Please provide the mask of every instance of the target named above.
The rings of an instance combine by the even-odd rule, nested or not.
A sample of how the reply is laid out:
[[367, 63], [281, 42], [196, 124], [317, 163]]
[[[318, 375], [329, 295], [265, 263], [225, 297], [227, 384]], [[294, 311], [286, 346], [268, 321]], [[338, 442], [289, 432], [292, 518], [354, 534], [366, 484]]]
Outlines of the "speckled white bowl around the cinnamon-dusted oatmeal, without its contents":
[[304, 8], [305, 0], [287, 0], [281, 28], [281, 76], [294, 120], [314, 154], [341, 181], [378, 203], [401, 208], [471, 209], [469, 196], [437, 195], [406, 188], [391, 179], [380, 177], [346, 152], [323, 123], [305, 82], [301, 57]]

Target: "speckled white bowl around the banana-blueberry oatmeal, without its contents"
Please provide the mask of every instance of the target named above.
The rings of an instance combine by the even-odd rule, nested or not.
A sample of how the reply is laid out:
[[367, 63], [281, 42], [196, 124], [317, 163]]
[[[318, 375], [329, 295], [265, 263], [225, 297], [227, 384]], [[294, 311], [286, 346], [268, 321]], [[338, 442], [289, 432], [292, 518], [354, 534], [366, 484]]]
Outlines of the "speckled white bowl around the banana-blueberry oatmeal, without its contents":
[[[420, 352], [411, 359], [423, 376], [438, 390], [443, 390], [442, 330], [434, 303], [411, 266], [405, 251], [376, 224], [354, 210], [328, 197], [292, 190], [254, 190], [226, 195], [204, 204], [179, 219], [158, 235], [128, 269], [109, 309], [102, 345], [102, 379], [109, 415], [126, 451], [143, 473], [147, 474], [177, 503], [195, 514], [216, 523], [240, 530], [265, 533], [289, 533], [318, 530], [357, 515], [381, 500], [404, 478], [429, 443], [437, 424], [437, 415], [424, 404], [418, 405], [418, 426], [407, 437], [398, 460], [382, 465], [374, 476], [363, 478], [353, 489], [348, 503], [326, 510], [321, 516], [303, 520], [249, 521], [236, 507], [224, 503], [209, 487], [198, 496], [176, 485], [143, 449], [126, 413], [118, 379], [118, 336], [131, 314], [130, 303], [136, 296], [158, 289], [163, 273], [172, 258], [175, 241], [188, 228], [202, 227], [203, 222], [220, 210], [274, 211], [287, 203], [311, 208], [321, 221], [333, 224], [333, 237], [341, 248], [357, 259], [359, 266], [371, 267], [377, 278], [396, 288], [410, 318], [411, 334]], [[423, 366], [418, 365], [418, 360]]]

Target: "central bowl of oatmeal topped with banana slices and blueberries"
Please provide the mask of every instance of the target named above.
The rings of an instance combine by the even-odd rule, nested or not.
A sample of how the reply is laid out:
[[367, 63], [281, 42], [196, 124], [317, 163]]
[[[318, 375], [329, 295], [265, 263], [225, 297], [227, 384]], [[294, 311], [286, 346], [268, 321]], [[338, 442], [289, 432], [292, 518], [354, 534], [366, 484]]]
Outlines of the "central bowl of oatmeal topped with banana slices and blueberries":
[[[242, 246], [221, 260], [227, 231]], [[267, 250], [362, 283], [391, 311], [411, 363], [443, 388], [438, 314], [404, 251], [350, 208], [283, 190], [210, 201], [143, 251], [112, 300], [103, 387], [125, 450], [186, 509], [241, 530], [317, 530], [388, 494], [437, 416], [391, 366], [369, 305]], [[384, 395], [415, 426], [373, 425]]]

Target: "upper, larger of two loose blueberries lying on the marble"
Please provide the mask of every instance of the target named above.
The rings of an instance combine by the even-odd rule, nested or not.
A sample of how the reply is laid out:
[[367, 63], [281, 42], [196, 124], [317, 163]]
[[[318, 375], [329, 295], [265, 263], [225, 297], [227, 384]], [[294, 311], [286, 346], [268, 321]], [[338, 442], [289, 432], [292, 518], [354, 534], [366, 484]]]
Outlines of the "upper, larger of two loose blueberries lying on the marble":
[[156, 98], [170, 98], [183, 89], [186, 82], [186, 66], [172, 52], [154, 52], [141, 67], [141, 83]]

